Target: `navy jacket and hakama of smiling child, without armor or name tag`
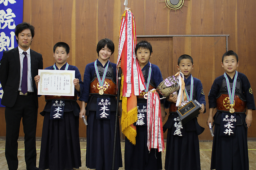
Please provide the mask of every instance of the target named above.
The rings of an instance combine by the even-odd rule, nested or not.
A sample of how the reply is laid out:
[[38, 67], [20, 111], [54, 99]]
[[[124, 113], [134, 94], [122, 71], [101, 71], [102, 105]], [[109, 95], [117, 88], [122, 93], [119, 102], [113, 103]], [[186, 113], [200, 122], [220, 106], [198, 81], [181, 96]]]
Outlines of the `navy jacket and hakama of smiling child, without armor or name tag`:
[[[102, 68], [106, 68], [107, 64], [108, 62], [103, 67], [97, 59], [97, 67], [101, 67], [101, 70]], [[100, 68], [98, 69], [100, 70]], [[99, 71], [99, 73], [100, 78], [102, 78], [103, 72]], [[84, 90], [79, 98], [79, 100], [87, 103], [86, 115], [88, 125], [86, 128], [86, 166], [90, 169], [112, 170], [116, 121], [116, 97], [114, 95], [105, 95], [105, 93], [103, 95], [99, 95], [97, 93], [90, 94], [90, 84], [95, 80], [95, 77], [94, 62], [87, 64], [84, 71]], [[109, 64], [106, 78], [112, 79], [113, 82], [116, 80], [116, 64]], [[96, 118], [98, 98], [110, 98], [110, 119]], [[123, 166], [119, 120], [117, 119], [117, 121], [115, 170]]]

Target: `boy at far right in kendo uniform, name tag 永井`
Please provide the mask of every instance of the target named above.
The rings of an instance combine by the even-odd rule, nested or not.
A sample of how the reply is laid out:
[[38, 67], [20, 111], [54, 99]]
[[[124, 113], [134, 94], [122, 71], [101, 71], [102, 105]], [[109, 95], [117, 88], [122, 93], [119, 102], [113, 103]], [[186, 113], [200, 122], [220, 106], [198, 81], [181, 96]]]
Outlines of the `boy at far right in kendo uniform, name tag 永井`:
[[226, 52], [221, 65], [225, 73], [214, 80], [208, 95], [207, 125], [215, 125], [211, 169], [249, 170], [247, 128], [252, 122], [252, 110], [255, 110], [252, 88], [248, 78], [236, 71], [239, 62], [235, 52]]

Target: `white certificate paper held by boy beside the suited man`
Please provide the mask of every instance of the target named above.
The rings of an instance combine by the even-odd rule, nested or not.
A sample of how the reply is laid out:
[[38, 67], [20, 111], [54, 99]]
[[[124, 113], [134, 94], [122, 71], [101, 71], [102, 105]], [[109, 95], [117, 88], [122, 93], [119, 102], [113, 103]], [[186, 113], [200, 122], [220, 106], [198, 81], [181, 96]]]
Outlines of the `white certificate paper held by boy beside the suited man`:
[[38, 70], [38, 95], [74, 96], [75, 70]]

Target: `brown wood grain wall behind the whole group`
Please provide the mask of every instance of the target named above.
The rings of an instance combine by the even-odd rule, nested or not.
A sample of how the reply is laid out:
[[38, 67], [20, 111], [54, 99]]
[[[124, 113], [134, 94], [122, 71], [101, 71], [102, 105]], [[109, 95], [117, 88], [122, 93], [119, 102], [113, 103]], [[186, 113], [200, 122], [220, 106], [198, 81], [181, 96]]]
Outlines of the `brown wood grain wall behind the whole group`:
[[[30, 22], [36, 28], [31, 49], [43, 55], [45, 68], [54, 63], [53, 45], [59, 41], [67, 42], [71, 49], [68, 63], [76, 65], [83, 75], [85, 65], [97, 58], [98, 41], [109, 38], [116, 45], [116, 52], [110, 57], [110, 61], [115, 63], [123, 3], [124, 0], [24, 0], [23, 21]], [[184, 4], [186, 6], [181, 8], [183, 12], [175, 12], [169, 11], [165, 3], [159, 0], [129, 0], [128, 7], [135, 17], [137, 35], [229, 34], [228, 49], [234, 50], [239, 56], [237, 70], [248, 77], [255, 90], [256, 1], [185, 0]], [[164, 78], [177, 71], [177, 58], [181, 54], [191, 55], [195, 64], [192, 74], [201, 79], [207, 99], [213, 80], [224, 72], [220, 66], [221, 56], [225, 52], [222, 49], [225, 44], [223, 37], [174, 37], [149, 41], [152, 41], [153, 51], [163, 42], [169, 44], [168, 47], [161, 46], [156, 57], [152, 58], [152, 63], [159, 66]], [[39, 98], [39, 103], [38, 113], [44, 108], [43, 97]], [[80, 101], [78, 103], [81, 104]], [[208, 105], [206, 108], [207, 113], [198, 118], [199, 124], [205, 128]], [[4, 108], [0, 108], [0, 122], [0, 136], [5, 136]], [[41, 137], [42, 124], [43, 117], [38, 114], [37, 137]], [[86, 137], [86, 127], [82, 121], [79, 134]], [[20, 136], [24, 136], [22, 126]], [[255, 119], [248, 130], [248, 137], [256, 137]], [[208, 129], [199, 138], [212, 139]]]

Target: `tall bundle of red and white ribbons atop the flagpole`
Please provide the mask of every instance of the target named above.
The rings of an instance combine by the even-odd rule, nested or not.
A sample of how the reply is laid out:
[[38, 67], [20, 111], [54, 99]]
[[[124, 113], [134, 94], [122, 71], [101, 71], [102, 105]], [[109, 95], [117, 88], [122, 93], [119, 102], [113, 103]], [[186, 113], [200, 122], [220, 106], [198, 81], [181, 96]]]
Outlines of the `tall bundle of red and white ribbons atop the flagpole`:
[[[123, 96], [130, 97], [131, 93], [140, 95], [146, 87], [138, 59], [135, 56], [136, 27], [132, 12], [124, 11], [119, 34], [117, 63], [122, 61], [124, 75]], [[116, 70], [117, 73], [118, 70]]]

